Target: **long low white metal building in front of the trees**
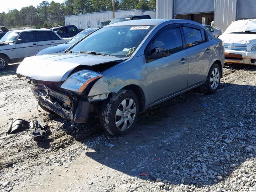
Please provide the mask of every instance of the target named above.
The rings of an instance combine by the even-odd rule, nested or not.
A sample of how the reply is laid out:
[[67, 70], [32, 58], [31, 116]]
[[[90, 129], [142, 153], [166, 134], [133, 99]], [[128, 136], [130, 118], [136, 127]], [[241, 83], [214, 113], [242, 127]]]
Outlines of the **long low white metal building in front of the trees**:
[[[150, 10], [119, 10], [115, 11], [115, 17], [128, 15], [150, 15], [152, 19], [156, 18], [156, 12]], [[97, 28], [101, 22], [111, 20], [112, 11], [94, 12], [80, 15], [65, 16], [66, 25], [75, 25], [78, 29]]]

